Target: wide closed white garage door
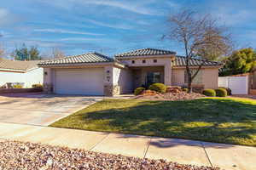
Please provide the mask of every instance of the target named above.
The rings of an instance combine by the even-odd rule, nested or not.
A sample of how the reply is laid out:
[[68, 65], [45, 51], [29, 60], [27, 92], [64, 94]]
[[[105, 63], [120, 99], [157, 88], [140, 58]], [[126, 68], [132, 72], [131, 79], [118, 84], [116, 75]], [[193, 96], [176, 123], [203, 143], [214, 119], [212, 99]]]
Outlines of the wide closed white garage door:
[[103, 95], [103, 68], [56, 69], [56, 94]]

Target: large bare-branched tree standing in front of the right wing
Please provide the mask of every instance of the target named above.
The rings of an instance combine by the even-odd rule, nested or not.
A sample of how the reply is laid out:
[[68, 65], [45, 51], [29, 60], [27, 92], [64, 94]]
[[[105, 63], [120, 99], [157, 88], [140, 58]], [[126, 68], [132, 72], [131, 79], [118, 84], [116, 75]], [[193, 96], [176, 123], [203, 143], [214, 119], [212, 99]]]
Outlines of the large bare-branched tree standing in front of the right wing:
[[[170, 33], [164, 38], [180, 42], [185, 49], [186, 74], [191, 93], [192, 82], [207, 60], [218, 59], [230, 51], [230, 33], [224, 26], [219, 26], [218, 20], [212, 19], [210, 14], [200, 15], [189, 10], [172, 14], [169, 24]], [[191, 68], [191, 59], [202, 60], [195, 71]]]

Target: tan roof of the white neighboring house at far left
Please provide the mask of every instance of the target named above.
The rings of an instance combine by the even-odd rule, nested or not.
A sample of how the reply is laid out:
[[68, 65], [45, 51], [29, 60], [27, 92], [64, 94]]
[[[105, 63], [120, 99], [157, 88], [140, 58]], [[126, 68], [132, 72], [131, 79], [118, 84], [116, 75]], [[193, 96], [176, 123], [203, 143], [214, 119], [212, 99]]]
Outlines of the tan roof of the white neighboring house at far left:
[[39, 60], [20, 61], [0, 58], [0, 69], [15, 70], [15, 71], [29, 71], [38, 67]]

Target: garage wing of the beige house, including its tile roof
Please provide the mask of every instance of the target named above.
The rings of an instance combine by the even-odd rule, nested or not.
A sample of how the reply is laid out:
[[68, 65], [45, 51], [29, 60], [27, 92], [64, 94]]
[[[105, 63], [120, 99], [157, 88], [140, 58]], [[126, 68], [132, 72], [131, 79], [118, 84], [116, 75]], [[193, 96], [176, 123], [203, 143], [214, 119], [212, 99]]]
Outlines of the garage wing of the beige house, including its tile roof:
[[44, 68], [44, 92], [112, 95], [113, 65], [120, 64], [96, 52], [46, 60], [39, 64]]

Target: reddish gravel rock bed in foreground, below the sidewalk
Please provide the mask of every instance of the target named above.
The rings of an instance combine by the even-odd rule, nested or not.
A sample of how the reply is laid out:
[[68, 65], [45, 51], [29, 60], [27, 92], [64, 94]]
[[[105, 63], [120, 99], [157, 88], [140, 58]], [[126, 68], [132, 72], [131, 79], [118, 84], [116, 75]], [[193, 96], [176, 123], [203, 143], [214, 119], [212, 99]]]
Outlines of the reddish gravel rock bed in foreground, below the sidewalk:
[[218, 170], [164, 160], [116, 156], [79, 149], [3, 140], [0, 142], [0, 169], [170, 169]]

